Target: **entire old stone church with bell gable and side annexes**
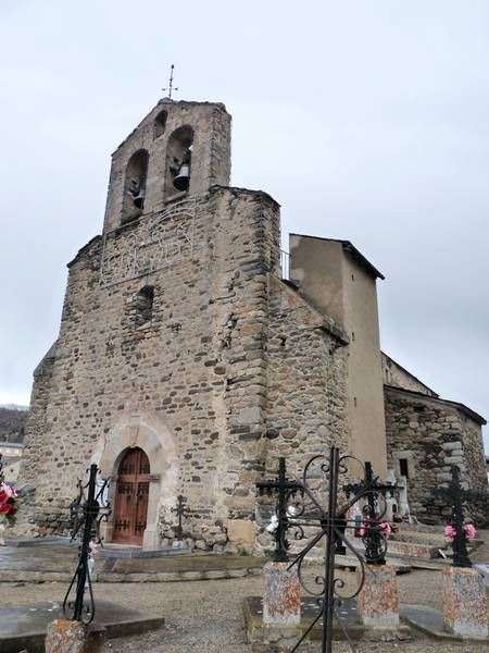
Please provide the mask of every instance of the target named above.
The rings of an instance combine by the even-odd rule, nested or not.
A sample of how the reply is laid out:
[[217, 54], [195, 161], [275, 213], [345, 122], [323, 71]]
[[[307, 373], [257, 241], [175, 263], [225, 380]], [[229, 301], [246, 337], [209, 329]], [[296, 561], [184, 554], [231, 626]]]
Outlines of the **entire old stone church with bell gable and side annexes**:
[[[487, 479], [485, 420], [379, 347], [383, 274], [349, 241], [291, 234], [229, 186], [224, 104], [162, 99], [112, 157], [102, 235], [68, 263], [59, 337], [34, 373], [23, 480], [42, 533], [65, 528], [89, 463], [112, 477], [105, 540], [252, 547], [254, 483], [331, 444], [406, 479], [439, 520], [450, 464]], [[168, 541], [170, 538], [170, 541]]]

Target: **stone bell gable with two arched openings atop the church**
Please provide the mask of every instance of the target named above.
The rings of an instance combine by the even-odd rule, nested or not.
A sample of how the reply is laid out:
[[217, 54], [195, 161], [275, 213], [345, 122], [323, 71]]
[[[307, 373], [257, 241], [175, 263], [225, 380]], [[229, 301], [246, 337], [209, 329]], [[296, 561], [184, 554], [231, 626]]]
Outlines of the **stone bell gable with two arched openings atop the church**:
[[103, 232], [229, 185], [230, 115], [221, 102], [163, 98], [112, 155]]

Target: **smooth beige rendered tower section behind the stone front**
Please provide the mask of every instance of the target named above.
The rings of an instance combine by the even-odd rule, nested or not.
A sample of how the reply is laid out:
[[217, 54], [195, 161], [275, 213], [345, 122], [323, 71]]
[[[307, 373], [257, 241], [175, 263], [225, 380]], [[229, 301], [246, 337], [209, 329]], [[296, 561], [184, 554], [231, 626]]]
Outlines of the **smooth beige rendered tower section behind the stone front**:
[[290, 236], [290, 276], [300, 294], [350, 338], [347, 360], [350, 448], [387, 472], [376, 282], [336, 241]]

